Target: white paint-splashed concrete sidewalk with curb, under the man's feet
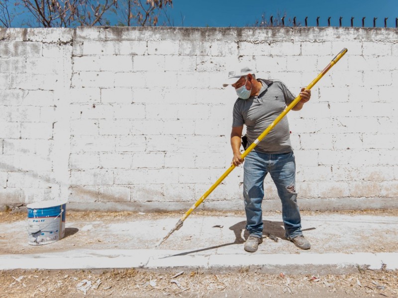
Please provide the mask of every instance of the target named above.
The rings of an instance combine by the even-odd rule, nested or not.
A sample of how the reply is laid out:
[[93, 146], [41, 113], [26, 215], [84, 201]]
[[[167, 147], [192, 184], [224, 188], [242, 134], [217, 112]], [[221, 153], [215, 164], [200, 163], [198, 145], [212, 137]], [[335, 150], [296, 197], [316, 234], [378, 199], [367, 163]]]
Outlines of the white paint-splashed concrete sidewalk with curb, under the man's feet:
[[[214, 215], [217, 213], [214, 212]], [[264, 242], [255, 253], [243, 249], [245, 218], [189, 217], [160, 247], [175, 226], [171, 218], [135, 214], [91, 221], [66, 218], [66, 237], [32, 246], [26, 223], [0, 223], [0, 270], [106, 269], [250, 270], [279, 274], [344, 274], [359, 269], [398, 269], [398, 217], [319, 214], [302, 216], [311, 242], [300, 250], [285, 239], [281, 214], [264, 216]]]

